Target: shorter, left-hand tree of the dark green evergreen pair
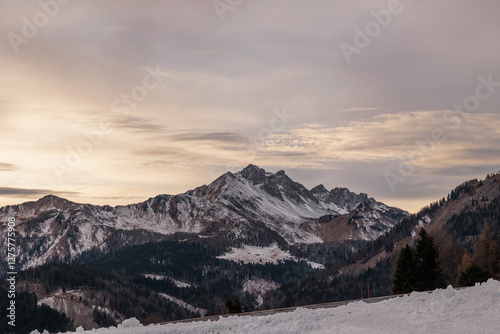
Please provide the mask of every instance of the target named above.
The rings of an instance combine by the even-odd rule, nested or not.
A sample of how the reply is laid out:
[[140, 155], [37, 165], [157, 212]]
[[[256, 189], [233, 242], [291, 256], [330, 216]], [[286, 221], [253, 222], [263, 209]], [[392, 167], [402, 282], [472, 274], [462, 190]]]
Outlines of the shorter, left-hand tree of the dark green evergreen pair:
[[412, 292], [415, 286], [416, 266], [414, 250], [406, 244], [399, 254], [394, 275], [394, 294]]

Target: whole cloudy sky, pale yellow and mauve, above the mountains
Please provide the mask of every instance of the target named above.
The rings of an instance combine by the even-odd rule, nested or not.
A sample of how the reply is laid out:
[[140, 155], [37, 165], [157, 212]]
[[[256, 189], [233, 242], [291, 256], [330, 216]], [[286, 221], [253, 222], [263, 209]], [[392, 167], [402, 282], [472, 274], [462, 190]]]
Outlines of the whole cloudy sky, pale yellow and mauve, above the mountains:
[[0, 205], [249, 163], [416, 211], [500, 169], [494, 0], [0, 0]]

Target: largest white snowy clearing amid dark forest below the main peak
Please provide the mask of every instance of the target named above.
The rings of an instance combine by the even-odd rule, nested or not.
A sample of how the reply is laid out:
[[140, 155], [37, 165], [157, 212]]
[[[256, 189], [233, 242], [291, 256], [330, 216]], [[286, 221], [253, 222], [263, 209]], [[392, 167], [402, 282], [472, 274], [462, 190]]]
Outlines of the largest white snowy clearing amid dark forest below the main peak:
[[325, 267], [320, 263], [308, 261], [306, 259], [299, 260], [295, 256], [292, 256], [289, 252], [279, 248], [277, 244], [273, 244], [267, 247], [243, 245], [243, 248], [232, 248], [231, 251], [224, 255], [217, 256], [217, 258], [235, 262], [262, 264], [277, 264], [279, 261], [285, 260], [292, 260], [297, 262], [300, 260], [304, 260], [314, 269], [322, 269]]

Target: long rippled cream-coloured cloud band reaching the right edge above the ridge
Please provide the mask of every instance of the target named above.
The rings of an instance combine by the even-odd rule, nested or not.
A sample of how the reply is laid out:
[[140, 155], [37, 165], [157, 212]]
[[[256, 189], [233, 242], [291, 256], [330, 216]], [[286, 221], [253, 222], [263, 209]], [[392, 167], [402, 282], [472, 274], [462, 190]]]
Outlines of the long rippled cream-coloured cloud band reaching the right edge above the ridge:
[[[377, 115], [344, 126], [306, 124], [264, 138], [263, 147], [283, 152], [302, 149], [312, 156], [336, 161], [401, 160], [422, 147], [429, 147], [426, 155], [451, 164], [479, 163], [500, 156], [500, 115], [472, 114], [462, 120], [459, 129], [444, 115], [445, 111], [403, 112]], [[442, 140], [436, 140], [433, 131], [440, 131]]]

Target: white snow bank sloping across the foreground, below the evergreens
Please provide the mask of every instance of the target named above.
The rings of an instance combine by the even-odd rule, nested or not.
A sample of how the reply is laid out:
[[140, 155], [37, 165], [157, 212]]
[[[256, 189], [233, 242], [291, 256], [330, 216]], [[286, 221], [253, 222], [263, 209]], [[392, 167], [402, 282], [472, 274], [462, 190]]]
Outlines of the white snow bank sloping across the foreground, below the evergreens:
[[261, 317], [140, 326], [126, 320], [117, 329], [85, 333], [499, 333], [500, 282], [489, 280], [464, 290], [414, 292], [378, 303], [362, 301], [332, 309], [297, 309]]

